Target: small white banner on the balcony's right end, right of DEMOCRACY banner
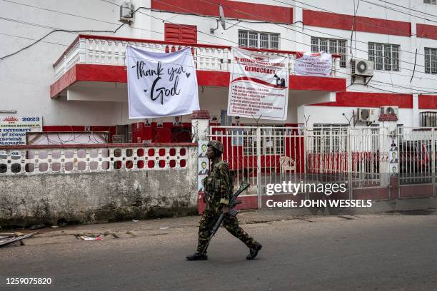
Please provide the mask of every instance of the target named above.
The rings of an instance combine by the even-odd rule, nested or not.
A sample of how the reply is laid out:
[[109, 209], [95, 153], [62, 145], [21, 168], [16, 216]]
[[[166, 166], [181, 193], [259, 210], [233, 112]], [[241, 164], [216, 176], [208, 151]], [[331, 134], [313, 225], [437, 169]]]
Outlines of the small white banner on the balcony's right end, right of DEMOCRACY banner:
[[297, 53], [294, 73], [304, 76], [329, 76], [332, 69], [332, 56], [320, 53]]

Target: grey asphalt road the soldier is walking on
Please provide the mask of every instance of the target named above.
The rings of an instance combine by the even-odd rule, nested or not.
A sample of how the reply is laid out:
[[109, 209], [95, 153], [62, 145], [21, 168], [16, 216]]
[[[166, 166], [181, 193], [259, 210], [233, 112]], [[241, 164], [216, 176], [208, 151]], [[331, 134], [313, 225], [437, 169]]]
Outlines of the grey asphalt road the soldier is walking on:
[[[194, 227], [137, 237], [35, 239], [0, 249], [0, 290], [437, 290], [437, 215], [316, 217], [243, 225], [258, 258], [221, 228], [188, 262]], [[32, 242], [32, 243], [30, 243]], [[50, 277], [51, 285], [6, 285]]]

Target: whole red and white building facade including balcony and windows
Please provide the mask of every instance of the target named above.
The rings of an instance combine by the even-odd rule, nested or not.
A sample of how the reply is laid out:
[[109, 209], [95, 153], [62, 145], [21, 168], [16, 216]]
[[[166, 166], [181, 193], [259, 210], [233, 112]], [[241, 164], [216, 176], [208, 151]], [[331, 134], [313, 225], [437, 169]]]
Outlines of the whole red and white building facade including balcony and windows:
[[[46, 132], [115, 134], [117, 125], [134, 123], [130, 142], [186, 141], [181, 129], [190, 130], [191, 116], [181, 123], [129, 120], [129, 44], [161, 52], [191, 46], [200, 107], [211, 123], [253, 124], [226, 114], [230, 50], [239, 46], [281, 54], [291, 66], [288, 118], [263, 124], [375, 126], [381, 108], [390, 106], [401, 126], [437, 126], [434, 1], [132, 0], [134, 13], [125, 24], [123, 3], [3, 1], [0, 117], [42, 116]], [[296, 53], [307, 51], [332, 53], [331, 76], [293, 74]], [[373, 62], [367, 63], [372, 77], [357, 73], [359, 61]], [[367, 109], [366, 119], [360, 112]]]

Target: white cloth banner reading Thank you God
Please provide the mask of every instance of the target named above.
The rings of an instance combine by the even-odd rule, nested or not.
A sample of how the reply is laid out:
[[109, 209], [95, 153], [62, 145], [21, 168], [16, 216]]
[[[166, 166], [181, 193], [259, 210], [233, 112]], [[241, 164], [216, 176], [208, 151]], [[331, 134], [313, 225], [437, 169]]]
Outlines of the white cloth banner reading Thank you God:
[[127, 46], [129, 118], [181, 116], [199, 110], [191, 48], [153, 53]]

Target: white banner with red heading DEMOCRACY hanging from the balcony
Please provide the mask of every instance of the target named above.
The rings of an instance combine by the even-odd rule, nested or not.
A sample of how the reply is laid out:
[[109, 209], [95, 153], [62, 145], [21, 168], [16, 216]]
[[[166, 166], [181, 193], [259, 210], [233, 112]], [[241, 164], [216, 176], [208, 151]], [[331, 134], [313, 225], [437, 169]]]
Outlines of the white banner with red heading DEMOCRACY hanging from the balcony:
[[228, 116], [286, 120], [288, 104], [288, 61], [232, 48]]

